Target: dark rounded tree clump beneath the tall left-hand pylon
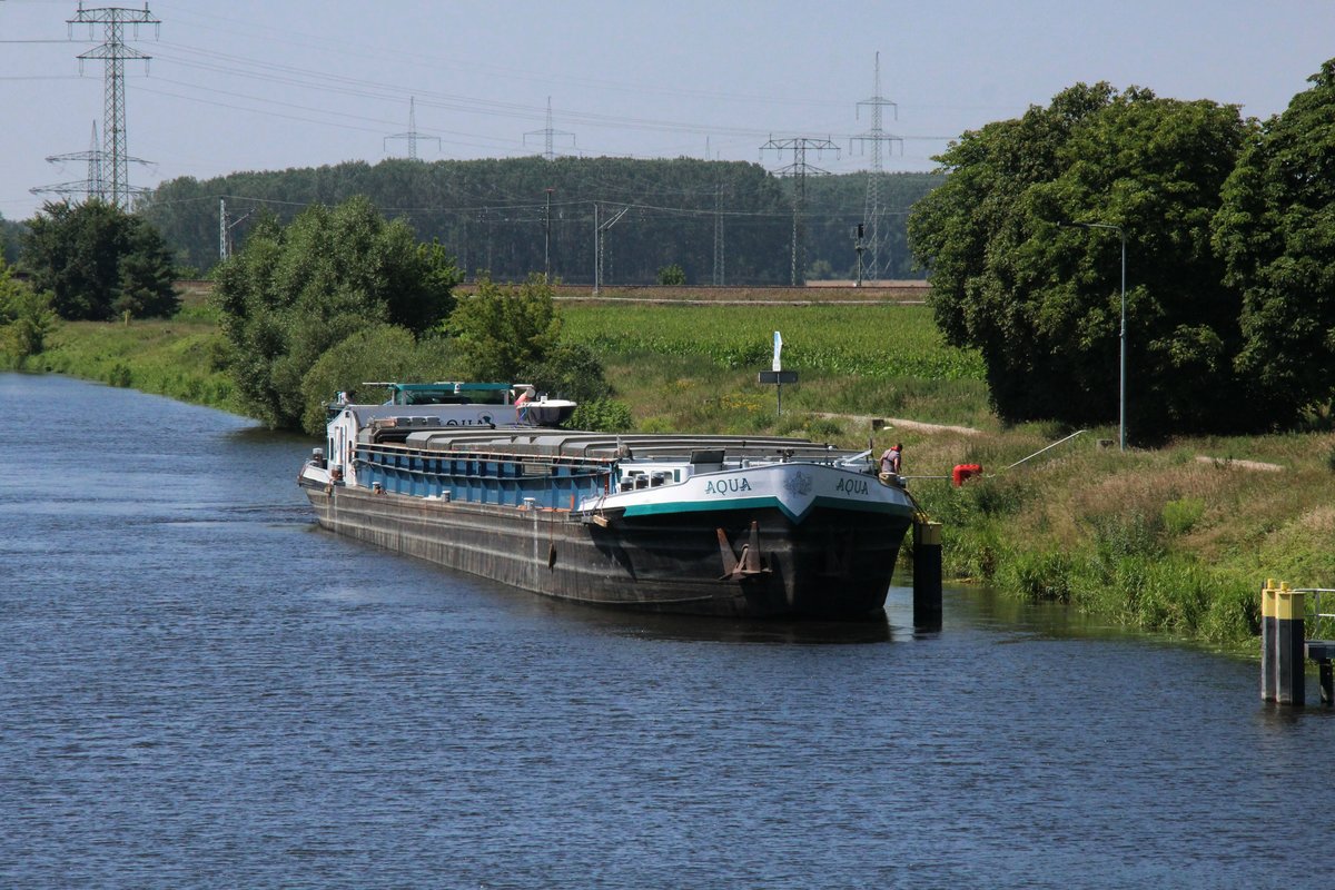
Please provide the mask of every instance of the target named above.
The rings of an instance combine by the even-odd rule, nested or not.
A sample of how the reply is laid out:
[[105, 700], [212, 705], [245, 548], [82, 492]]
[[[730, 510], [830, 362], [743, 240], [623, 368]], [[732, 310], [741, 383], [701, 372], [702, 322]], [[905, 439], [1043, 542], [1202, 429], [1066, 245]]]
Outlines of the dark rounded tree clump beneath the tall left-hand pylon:
[[47, 203], [28, 224], [20, 262], [63, 319], [167, 316], [180, 307], [162, 236], [100, 200]]

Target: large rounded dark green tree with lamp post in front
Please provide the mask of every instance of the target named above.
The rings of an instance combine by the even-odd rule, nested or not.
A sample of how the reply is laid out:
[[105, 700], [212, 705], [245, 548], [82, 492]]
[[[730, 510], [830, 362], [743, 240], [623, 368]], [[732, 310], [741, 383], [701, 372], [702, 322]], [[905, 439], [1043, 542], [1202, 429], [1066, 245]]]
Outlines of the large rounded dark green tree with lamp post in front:
[[1232, 374], [1239, 295], [1210, 247], [1247, 132], [1234, 107], [1077, 84], [939, 157], [949, 175], [909, 239], [937, 324], [983, 354], [1003, 418], [1116, 416], [1121, 243], [1061, 226], [1101, 223], [1127, 239], [1131, 432], [1251, 423]]

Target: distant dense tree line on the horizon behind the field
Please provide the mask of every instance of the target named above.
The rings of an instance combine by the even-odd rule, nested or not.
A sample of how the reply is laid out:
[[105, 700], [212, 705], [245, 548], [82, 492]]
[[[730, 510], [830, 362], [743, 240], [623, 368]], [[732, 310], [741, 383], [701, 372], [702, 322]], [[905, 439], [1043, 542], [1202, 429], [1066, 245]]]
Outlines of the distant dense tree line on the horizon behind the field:
[[[933, 173], [882, 175], [882, 278], [921, 276], [905, 247], [904, 219], [940, 181]], [[793, 189], [793, 180], [758, 164], [688, 157], [350, 161], [175, 179], [154, 189], [140, 215], [182, 263], [202, 274], [222, 252], [223, 205], [232, 239], [242, 244], [260, 209], [291, 221], [311, 204], [364, 195], [422, 240], [445, 244], [469, 276], [485, 271], [498, 280], [523, 280], [550, 270], [571, 284], [593, 284], [595, 276], [650, 284], [661, 270], [677, 266], [688, 284], [718, 278], [725, 284], [788, 284]], [[852, 230], [865, 221], [865, 191], [862, 173], [806, 180], [800, 280], [853, 278]]]

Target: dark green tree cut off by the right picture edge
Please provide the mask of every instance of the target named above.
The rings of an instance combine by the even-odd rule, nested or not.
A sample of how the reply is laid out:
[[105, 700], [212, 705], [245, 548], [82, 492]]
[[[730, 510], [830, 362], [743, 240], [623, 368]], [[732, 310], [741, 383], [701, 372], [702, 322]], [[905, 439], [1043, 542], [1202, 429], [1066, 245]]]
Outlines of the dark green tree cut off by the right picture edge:
[[1335, 408], [1335, 59], [1308, 83], [1248, 141], [1214, 224], [1243, 294], [1236, 367], [1280, 424]]

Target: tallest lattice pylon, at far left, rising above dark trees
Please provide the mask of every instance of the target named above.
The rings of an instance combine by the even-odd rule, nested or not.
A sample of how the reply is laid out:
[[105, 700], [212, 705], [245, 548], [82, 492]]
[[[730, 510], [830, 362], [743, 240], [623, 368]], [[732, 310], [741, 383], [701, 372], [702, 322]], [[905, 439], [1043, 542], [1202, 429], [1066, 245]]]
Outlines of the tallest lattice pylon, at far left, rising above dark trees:
[[148, 61], [152, 56], [144, 55], [134, 47], [125, 45], [125, 25], [134, 25], [135, 36], [139, 36], [139, 25], [154, 25], [156, 37], [160, 19], [154, 19], [148, 12], [148, 4], [143, 9], [124, 9], [120, 7], [103, 7], [97, 9], [84, 9], [79, 4], [79, 12], [73, 19], [65, 19], [69, 35], [73, 37], [76, 24], [88, 25], [88, 36], [92, 36], [93, 25], [103, 25], [103, 43], [79, 56], [79, 69], [89, 59], [100, 59], [105, 65], [104, 111], [101, 121], [101, 179], [103, 199], [121, 209], [129, 209], [129, 197], [134, 189], [129, 185], [129, 161], [143, 163], [138, 157], [131, 157], [125, 148], [125, 60]]

